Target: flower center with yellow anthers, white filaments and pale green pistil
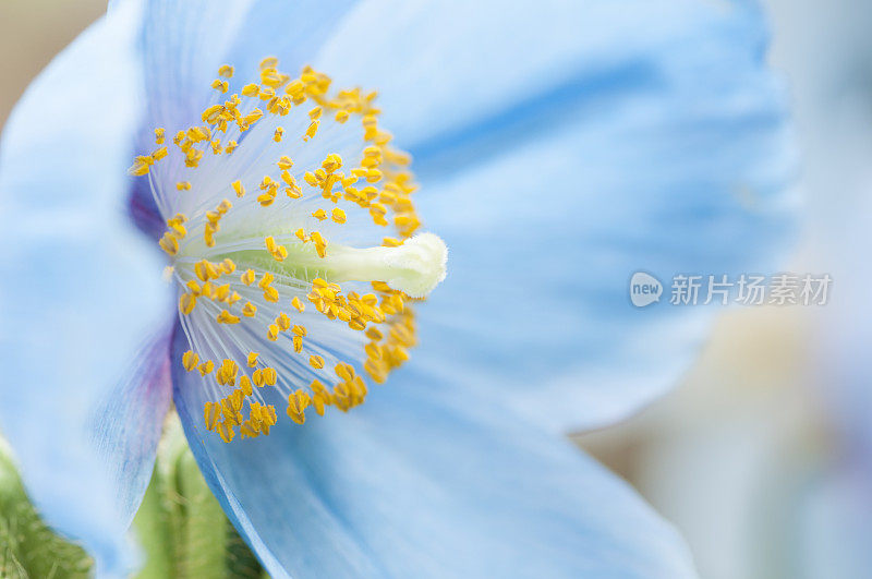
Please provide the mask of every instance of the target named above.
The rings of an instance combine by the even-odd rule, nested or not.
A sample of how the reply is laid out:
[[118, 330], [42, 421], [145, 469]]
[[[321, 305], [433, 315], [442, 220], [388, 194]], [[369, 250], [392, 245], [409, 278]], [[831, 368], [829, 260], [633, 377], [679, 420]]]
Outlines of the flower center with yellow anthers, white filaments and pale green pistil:
[[233, 69], [218, 74], [204, 124], [173, 145], [156, 129], [158, 148], [130, 172], [147, 176], [167, 221], [181, 362], [229, 443], [269, 434], [277, 403], [298, 424], [362, 403], [363, 374], [382, 383], [409, 358], [410, 302], [445, 278], [447, 250], [415, 233], [410, 158], [378, 126], [375, 93], [334, 93], [267, 58], [259, 83], [226, 98]]

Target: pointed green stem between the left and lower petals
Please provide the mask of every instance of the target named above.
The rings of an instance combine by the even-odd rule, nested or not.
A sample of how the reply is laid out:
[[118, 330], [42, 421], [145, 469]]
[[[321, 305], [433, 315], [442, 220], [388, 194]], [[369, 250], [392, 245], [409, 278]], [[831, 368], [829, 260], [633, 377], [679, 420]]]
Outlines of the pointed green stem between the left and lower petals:
[[206, 485], [174, 418], [167, 422], [134, 527], [145, 552], [140, 579], [264, 577]]

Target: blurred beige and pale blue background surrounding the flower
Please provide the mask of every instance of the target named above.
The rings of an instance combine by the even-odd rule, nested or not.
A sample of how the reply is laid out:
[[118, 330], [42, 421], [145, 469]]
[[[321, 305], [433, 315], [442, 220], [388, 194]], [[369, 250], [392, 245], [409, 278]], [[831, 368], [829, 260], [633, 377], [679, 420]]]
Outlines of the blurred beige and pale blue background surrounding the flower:
[[[0, 0], [0, 125], [106, 0]], [[693, 369], [573, 439], [683, 533], [706, 578], [872, 577], [872, 0], [767, 0], [807, 215], [786, 270], [829, 303], [724, 313]]]

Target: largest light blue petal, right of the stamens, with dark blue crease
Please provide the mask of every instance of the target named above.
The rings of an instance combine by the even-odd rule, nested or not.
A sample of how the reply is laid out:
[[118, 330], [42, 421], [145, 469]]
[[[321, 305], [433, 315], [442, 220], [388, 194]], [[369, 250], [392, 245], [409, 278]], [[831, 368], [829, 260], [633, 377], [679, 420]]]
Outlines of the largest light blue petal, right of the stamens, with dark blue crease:
[[[744, 3], [367, 2], [317, 63], [379, 89], [450, 250], [413, 352], [555, 429], [673, 385], [712, 312], [637, 310], [637, 270], [770, 273], [794, 154]], [[703, 299], [705, 295], [703, 295]], [[443, 386], [444, 387], [444, 386]]]

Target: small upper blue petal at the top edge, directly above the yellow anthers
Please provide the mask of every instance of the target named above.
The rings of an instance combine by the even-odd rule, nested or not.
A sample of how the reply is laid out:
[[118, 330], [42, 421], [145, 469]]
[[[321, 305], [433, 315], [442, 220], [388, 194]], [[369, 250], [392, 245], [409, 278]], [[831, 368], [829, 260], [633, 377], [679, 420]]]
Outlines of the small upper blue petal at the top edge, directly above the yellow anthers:
[[329, 38], [336, 21], [356, 0], [154, 0], [147, 3], [142, 33], [148, 92], [144, 134], [199, 123], [215, 101], [210, 88], [218, 68], [235, 68], [238, 91], [259, 82], [258, 63], [278, 56], [282, 70], [298, 73]]

